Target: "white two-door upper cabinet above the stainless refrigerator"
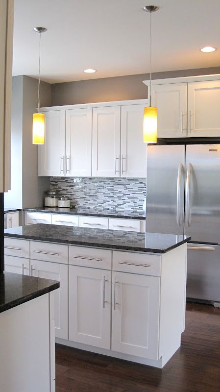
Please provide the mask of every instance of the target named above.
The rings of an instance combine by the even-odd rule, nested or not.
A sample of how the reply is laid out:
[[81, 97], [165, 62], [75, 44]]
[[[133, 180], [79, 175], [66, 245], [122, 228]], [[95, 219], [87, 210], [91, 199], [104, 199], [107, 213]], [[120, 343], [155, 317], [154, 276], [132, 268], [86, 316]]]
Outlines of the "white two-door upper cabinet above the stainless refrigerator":
[[151, 98], [158, 138], [220, 137], [220, 75], [153, 80]]

